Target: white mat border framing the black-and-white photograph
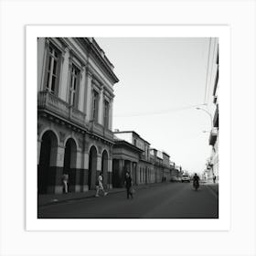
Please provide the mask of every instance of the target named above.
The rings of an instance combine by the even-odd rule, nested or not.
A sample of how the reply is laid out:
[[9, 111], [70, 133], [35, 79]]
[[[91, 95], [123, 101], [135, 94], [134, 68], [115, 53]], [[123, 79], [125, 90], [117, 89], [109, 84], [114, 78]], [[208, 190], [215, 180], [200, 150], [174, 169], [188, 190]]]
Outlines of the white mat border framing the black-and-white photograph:
[[[37, 219], [37, 37], [219, 37], [219, 219]], [[230, 43], [228, 26], [27, 26], [27, 230], [229, 230]], [[223, 86], [225, 85], [225, 86]], [[225, 105], [222, 104], [225, 99]], [[225, 171], [224, 171], [225, 170]], [[223, 186], [225, 184], [225, 187]]]

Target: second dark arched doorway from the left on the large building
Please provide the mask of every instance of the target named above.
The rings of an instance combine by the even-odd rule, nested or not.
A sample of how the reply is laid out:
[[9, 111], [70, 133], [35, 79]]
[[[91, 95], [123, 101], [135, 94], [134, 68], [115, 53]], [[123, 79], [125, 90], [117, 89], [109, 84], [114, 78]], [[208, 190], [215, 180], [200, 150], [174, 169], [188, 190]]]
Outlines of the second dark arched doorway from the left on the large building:
[[77, 145], [72, 138], [65, 144], [63, 174], [69, 175], [69, 192], [76, 188]]

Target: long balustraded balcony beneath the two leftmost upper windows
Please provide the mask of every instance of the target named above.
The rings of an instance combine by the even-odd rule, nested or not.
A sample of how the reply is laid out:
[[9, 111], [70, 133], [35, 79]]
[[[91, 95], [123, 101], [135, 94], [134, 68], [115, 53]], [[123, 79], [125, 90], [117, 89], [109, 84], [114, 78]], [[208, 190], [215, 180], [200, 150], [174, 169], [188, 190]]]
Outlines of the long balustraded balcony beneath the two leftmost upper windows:
[[37, 109], [48, 110], [58, 114], [72, 123], [85, 125], [85, 113], [73, 108], [68, 102], [63, 101], [48, 91], [40, 91], [37, 95]]

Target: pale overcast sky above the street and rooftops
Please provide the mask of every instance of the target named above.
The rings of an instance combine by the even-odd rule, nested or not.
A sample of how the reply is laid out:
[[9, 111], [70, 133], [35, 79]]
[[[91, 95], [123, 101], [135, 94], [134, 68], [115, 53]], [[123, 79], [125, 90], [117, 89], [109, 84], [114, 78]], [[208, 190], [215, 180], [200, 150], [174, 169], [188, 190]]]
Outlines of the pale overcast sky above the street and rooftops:
[[[96, 38], [114, 65], [113, 129], [135, 131], [183, 169], [202, 172], [210, 155], [205, 99], [209, 38]], [[207, 95], [205, 95], [207, 93]], [[206, 97], [207, 96], [207, 97]]]

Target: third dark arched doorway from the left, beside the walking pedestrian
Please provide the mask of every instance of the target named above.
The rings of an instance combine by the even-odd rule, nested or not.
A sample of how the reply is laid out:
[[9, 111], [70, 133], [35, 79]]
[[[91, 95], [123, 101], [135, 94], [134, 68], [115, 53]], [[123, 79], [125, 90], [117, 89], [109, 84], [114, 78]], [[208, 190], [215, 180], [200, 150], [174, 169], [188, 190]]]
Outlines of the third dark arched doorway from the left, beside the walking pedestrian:
[[88, 173], [88, 189], [95, 188], [97, 171], [97, 150], [94, 145], [91, 146], [89, 154], [89, 173]]

